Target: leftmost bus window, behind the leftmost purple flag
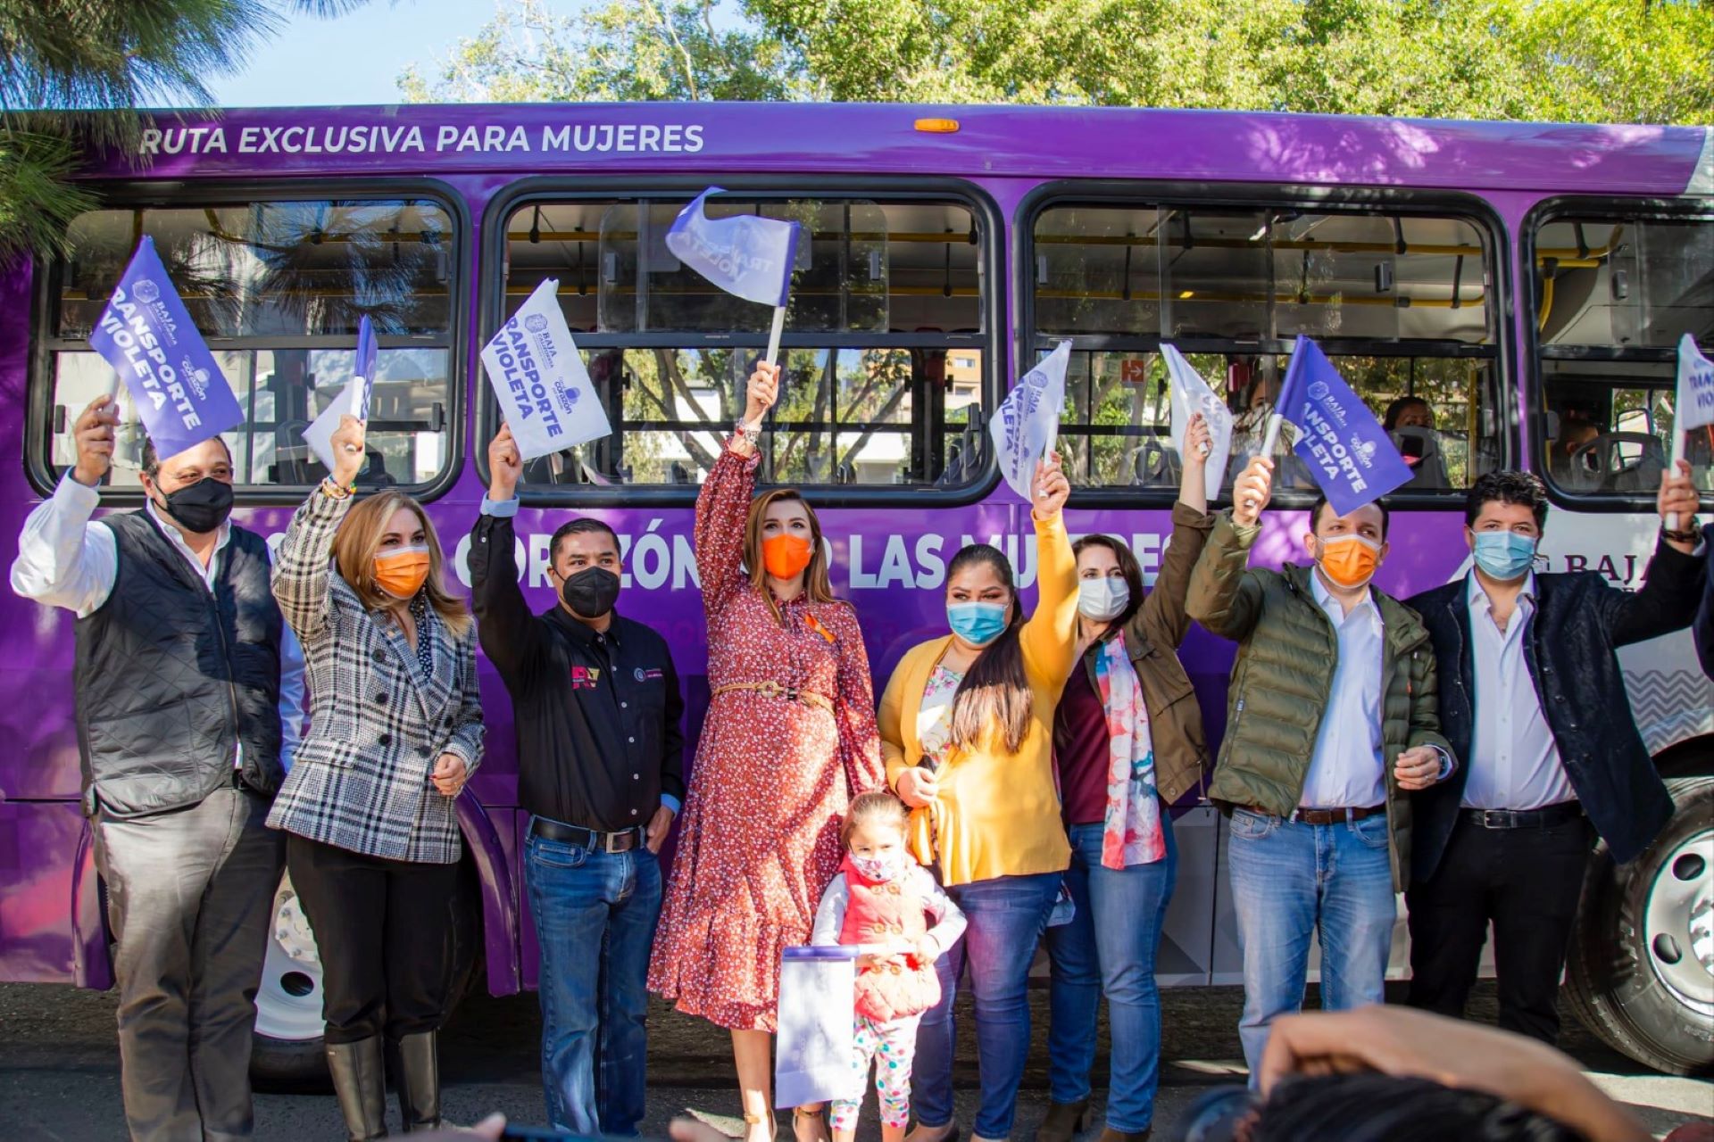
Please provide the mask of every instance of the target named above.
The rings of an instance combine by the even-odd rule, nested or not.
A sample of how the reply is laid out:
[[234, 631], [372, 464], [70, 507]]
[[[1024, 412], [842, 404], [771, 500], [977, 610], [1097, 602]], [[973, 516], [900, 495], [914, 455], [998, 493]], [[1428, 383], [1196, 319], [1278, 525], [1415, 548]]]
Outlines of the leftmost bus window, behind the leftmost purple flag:
[[[369, 315], [381, 351], [358, 483], [423, 486], [449, 462], [454, 233], [417, 200], [221, 202], [91, 211], [75, 255], [51, 267], [51, 423], [39, 435], [57, 476], [75, 459], [72, 425], [113, 370], [89, 330], [142, 235], [226, 373], [245, 423], [226, 433], [240, 486], [309, 486], [326, 469], [302, 433], [343, 392]], [[111, 486], [137, 486], [142, 426], [120, 390]]]

